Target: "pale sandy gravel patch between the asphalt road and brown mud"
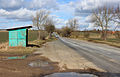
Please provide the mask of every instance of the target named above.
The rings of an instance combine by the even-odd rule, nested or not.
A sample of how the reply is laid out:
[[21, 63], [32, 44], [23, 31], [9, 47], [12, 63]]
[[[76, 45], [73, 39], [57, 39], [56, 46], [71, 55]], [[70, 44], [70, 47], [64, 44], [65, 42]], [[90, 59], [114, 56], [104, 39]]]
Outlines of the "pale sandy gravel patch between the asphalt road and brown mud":
[[101, 72], [105, 72], [58, 40], [46, 43], [44, 47], [38, 49], [35, 53], [42, 54], [53, 62], [59, 62], [60, 70], [85, 70], [92, 68]]

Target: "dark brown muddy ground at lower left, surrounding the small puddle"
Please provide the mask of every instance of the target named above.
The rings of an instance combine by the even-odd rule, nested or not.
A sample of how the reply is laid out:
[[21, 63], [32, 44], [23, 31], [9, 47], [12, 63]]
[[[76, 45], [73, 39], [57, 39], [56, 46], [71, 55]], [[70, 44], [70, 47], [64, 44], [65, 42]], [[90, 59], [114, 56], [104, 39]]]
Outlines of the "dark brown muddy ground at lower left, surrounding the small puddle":
[[24, 60], [0, 60], [0, 77], [41, 77], [59, 70], [55, 62], [51, 62], [51, 66], [54, 67], [52, 70], [30, 67], [28, 64], [35, 60], [51, 62], [49, 59], [41, 57], [41, 55], [29, 56]]

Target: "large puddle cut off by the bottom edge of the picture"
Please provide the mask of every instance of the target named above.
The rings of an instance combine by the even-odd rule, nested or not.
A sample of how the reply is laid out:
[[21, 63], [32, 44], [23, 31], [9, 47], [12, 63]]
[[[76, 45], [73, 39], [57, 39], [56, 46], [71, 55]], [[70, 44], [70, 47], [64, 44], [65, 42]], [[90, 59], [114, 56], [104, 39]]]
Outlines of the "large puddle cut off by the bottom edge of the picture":
[[54, 73], [50, 75], [46, 75], [44, 77], [98, 77], [93, 74], [80, 74], [75, 72], [66, 72], [66, 73]]

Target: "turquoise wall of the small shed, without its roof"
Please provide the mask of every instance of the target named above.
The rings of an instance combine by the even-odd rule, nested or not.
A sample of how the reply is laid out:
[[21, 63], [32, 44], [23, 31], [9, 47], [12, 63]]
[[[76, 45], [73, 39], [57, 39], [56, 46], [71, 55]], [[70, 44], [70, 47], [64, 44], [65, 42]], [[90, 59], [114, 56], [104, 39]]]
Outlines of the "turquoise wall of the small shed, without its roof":
[[27, 45], [27, 29], [17, 29], [9, 31], [9, 46]]

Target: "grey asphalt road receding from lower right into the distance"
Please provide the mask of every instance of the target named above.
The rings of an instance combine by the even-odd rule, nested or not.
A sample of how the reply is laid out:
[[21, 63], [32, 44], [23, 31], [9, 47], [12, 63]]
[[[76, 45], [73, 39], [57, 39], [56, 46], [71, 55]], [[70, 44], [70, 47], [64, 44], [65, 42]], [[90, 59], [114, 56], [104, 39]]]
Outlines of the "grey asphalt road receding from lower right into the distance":
[[59, 38], [82, 57], [104, 69], [109, 77], [120, 77], [120, 49], [105, 44]]

